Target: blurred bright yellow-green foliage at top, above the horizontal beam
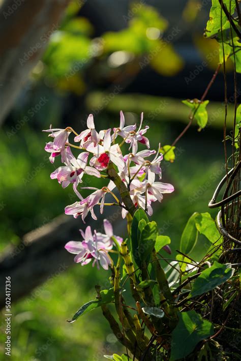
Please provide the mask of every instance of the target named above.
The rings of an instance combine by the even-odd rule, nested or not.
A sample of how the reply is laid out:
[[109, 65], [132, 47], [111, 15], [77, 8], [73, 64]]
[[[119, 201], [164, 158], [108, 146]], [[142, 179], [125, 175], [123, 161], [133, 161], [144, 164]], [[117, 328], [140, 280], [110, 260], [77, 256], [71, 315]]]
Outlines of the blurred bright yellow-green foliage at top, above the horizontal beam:
[[168, 23], [154, 7], [134, 3], [127, 27], [99, 38], [93, 37], [92, 24], [77, 16], [77, 12], [78, 7], [72, 2], [62, 26], [50, 37], [42, 61], [33, 71], [37, 79], [44, 78], [57, 89], [80, 95], [86, 89], [83, 73], [97, 59], [105, 65], [106, 77], [113, 68], [123, 70], [129, 65], [134, 65], [135, 74], [150, 65], [165, 76], [175, 75], [183, 68], [182, 58], [171, 45], [178, 33], [172, 31], [170, 39], [165, 39]]

